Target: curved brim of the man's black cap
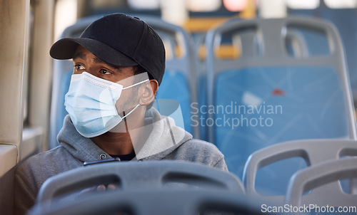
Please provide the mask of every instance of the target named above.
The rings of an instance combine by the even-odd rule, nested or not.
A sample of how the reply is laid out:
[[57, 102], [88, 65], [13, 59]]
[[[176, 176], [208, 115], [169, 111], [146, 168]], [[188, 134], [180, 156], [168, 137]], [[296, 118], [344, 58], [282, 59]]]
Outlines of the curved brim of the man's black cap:
[[106, 63], [110, 63], [111, 65], [138, 65], [136, 61], [124, 55], [120, 51], [111, 48], [111, 46], [106, 45], [106, 43], [102, 43], [101, 41], [96, 41], [91, 38], [62, 38], [54, 43], [49, 53], [51, 57], [55, 59], [71, 59], [73, 58], [74, 53], [76, 53], [76, 49], [79, 45], [93, 53], [97, 58], [105, 61]]

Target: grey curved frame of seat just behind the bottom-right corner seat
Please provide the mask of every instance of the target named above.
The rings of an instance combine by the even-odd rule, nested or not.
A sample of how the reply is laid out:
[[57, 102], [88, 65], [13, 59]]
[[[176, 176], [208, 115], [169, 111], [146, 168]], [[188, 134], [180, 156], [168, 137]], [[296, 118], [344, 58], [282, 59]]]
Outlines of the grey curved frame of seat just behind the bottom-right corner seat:
[[336, 160], [343, 156], [357, 156], [356, 140], [317, 139], [281, 142], [251, 154], [244, 168], [243, 184], [248, 195], [283, 204], [285, 196], [262, 196], [256, 192], [256, 174], [259, 169], [292, 157], [302, 157], [308, 166], [313, 167], [316, 164]]

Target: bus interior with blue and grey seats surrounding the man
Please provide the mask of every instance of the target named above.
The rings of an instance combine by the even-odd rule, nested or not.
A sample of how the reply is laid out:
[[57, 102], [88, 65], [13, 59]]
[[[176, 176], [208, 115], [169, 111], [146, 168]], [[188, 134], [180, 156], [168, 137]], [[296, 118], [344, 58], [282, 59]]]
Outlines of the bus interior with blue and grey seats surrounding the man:
[[[0, 0], [0, 11], [0, 214], [14, 214], [18, 164], [59, 146], [74, 66], [51, 45], [113, 13], [159, 34], [155, 107], [213, 143], [229, 172], [81, 167], [46, 181], [29, 214], [357, 214], [357, 0]], [[121, 190], [61, 204], [110, 183]]]

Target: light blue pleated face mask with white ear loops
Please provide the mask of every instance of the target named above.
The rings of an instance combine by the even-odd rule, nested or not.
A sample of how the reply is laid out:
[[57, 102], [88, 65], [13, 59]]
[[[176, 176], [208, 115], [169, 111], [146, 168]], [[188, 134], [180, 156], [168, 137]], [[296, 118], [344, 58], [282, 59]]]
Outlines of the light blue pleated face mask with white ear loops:
[[119, 116], [115, 104], [121, 90], [146, 81], [123, 88], [123, 85], [86, 72], [72, 75], [64, 105], [76, 130], [84, 137], [96, 137], [111, 130], [139, 107], [138, 104], [124, 117]]

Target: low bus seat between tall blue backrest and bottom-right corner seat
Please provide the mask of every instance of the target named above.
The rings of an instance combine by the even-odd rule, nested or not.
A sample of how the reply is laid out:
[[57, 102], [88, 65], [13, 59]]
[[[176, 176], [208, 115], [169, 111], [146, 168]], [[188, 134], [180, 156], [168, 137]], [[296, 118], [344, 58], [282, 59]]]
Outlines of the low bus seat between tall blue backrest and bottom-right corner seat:
[[[281, 142], [251, 154], [244, 169], [243, 184], [247, 194], [264, 201], [283, 204], [289, 179], [299, 169], [306, 169], [296, 168], [295, 162], [299, 162], [297, 158], [303, 159], [305, 167], [314, 167], [328, 160], [346, 156], [357, 156], [356, 140], [315, 139]], [[276, 168], [273, 170], [276, 172], [273, 172], [272, 168], [266, 168], [269, 165], [274, 165]], [[267, 172], [267, 174], [261, 174], [261, 172]], [[266, 177], [266, 175], [274, 177]], [[272, 191], [272, 189], [277, 189], [273, 184], [279, 184], [280, 193], [276, 190]]]

